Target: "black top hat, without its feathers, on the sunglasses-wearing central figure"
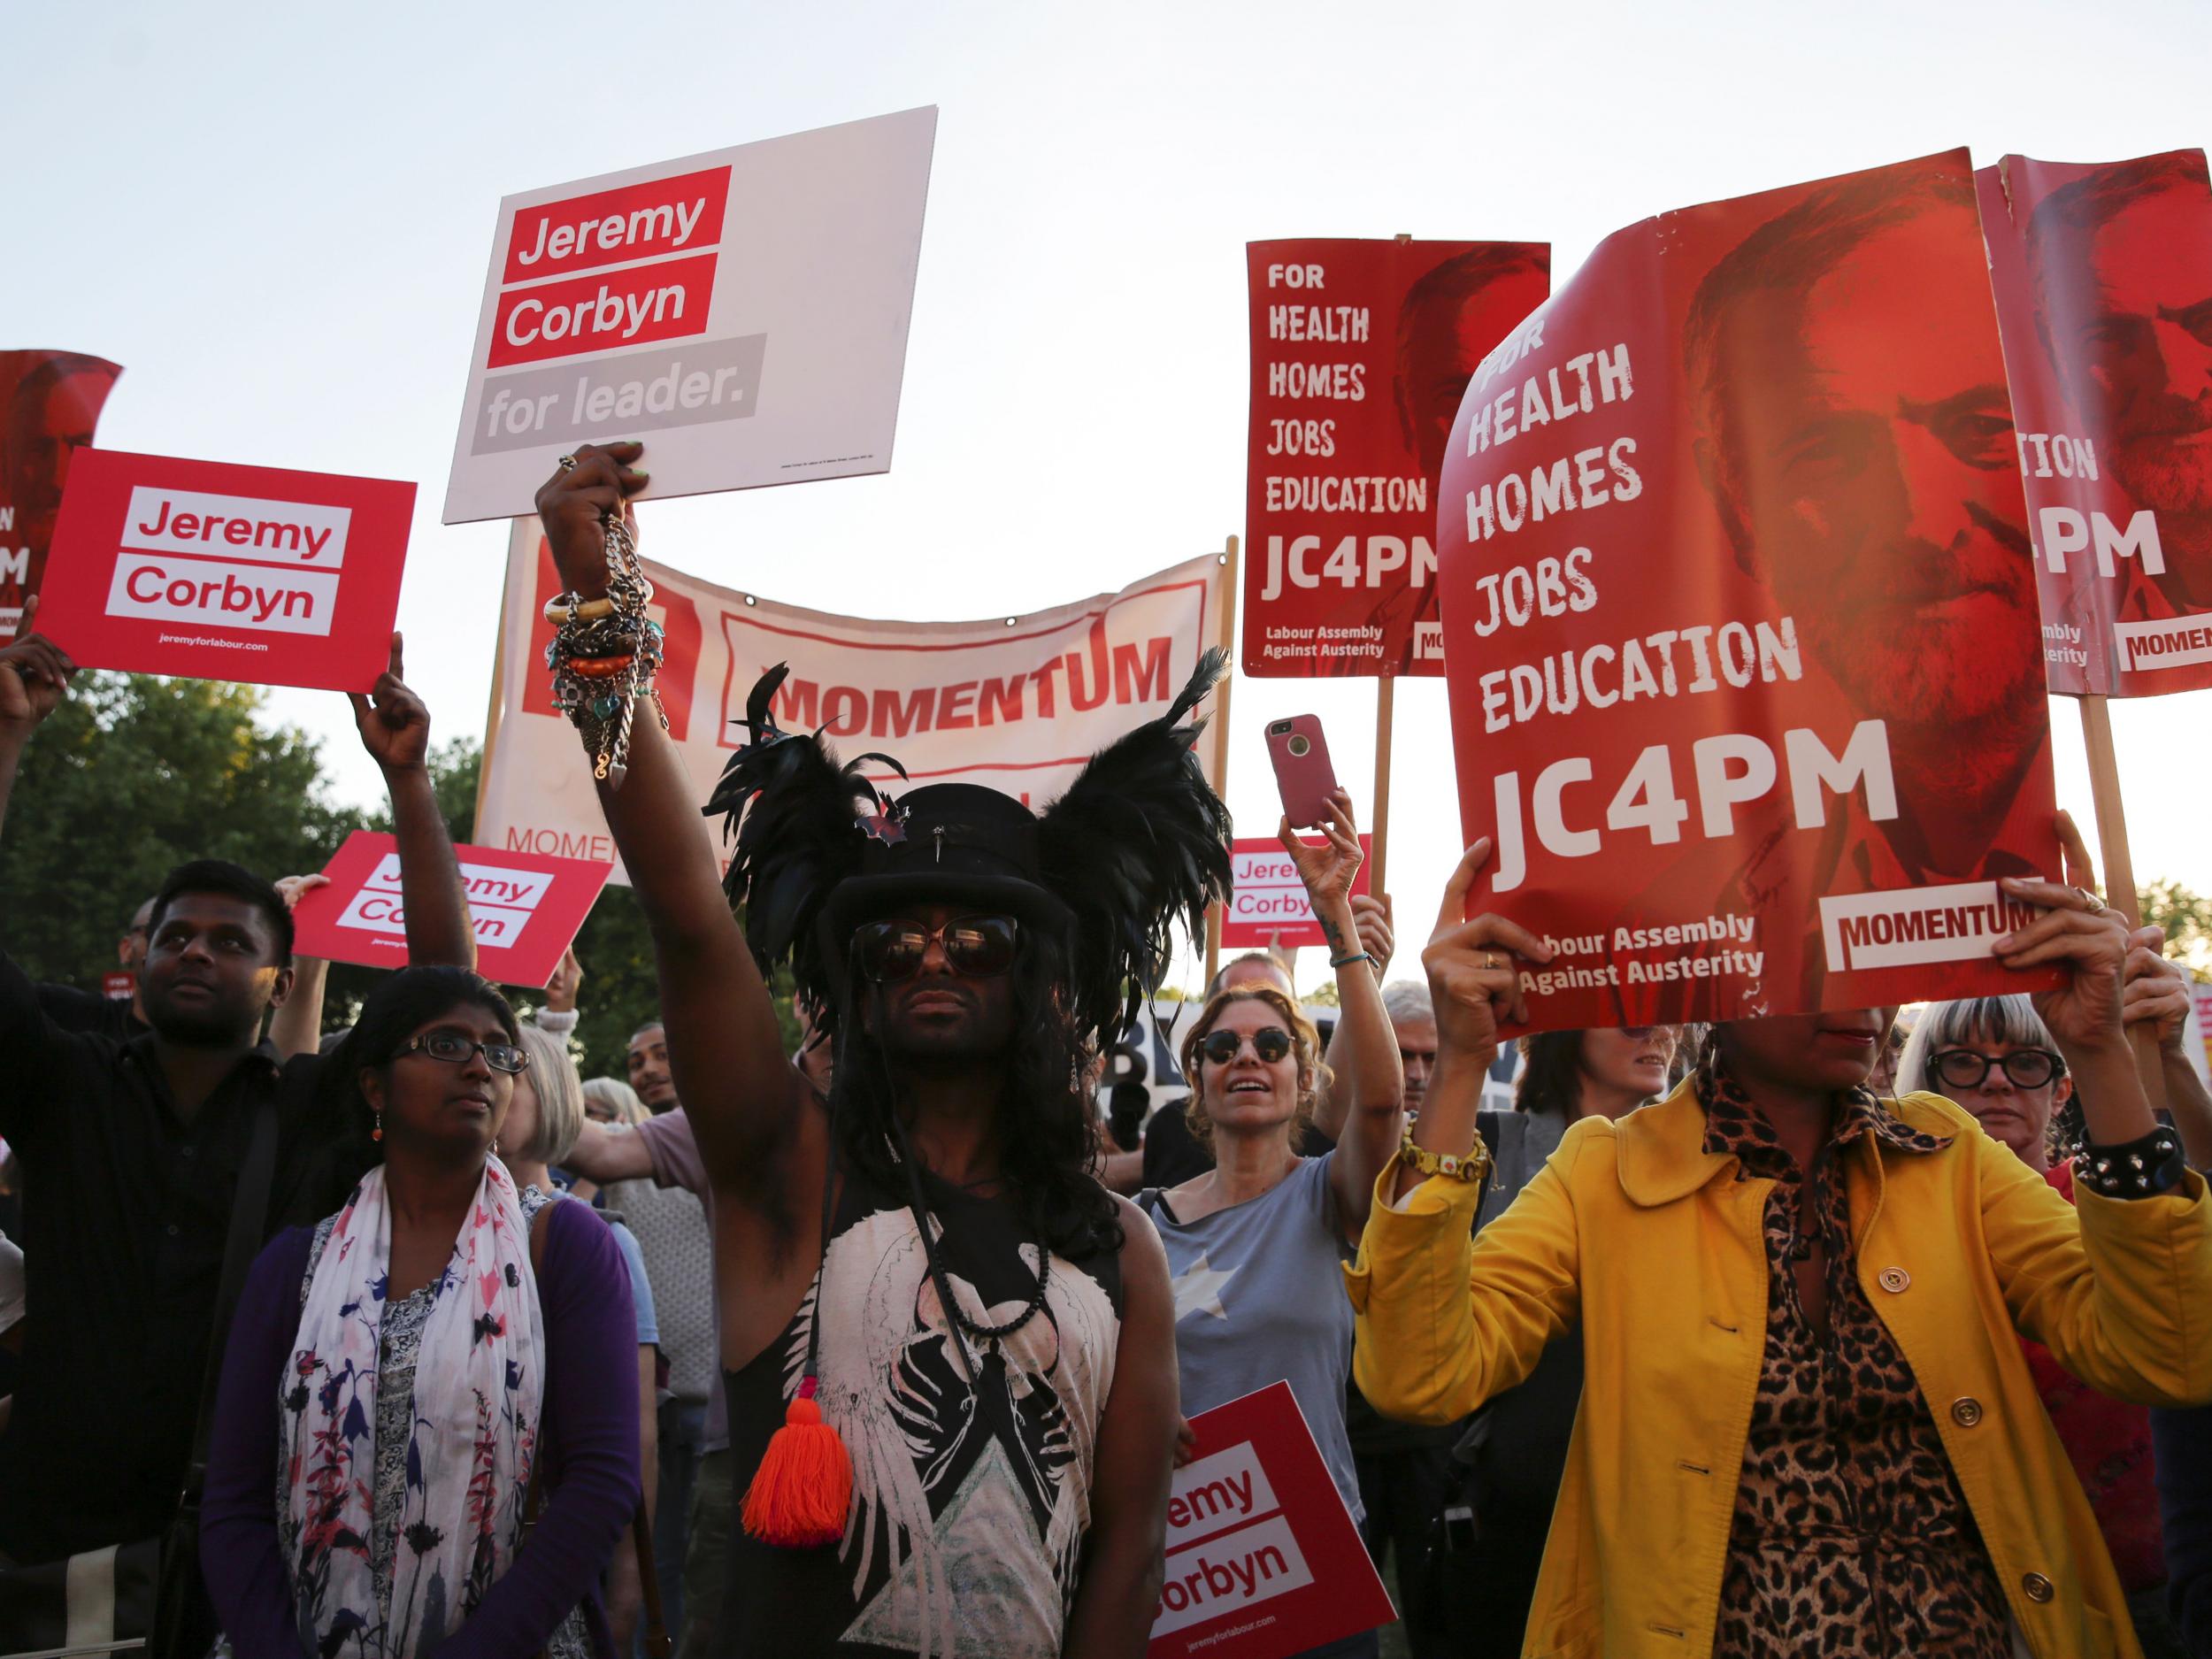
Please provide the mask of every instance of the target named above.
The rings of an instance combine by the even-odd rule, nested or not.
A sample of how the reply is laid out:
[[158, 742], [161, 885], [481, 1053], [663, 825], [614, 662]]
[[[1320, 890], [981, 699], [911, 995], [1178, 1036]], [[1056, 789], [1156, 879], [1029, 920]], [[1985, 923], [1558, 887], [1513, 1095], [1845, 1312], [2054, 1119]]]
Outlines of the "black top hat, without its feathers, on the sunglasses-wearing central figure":
[[1011, 794], [929, 783], [885, 816], [889, 832], [869, 834], [860, 867], [830, 891], [814, 925], [838, 978], [852, 931], [907, 905], [978, 905], [1053, 931], [1075, 920], [1044, 887], [1037, 814]]

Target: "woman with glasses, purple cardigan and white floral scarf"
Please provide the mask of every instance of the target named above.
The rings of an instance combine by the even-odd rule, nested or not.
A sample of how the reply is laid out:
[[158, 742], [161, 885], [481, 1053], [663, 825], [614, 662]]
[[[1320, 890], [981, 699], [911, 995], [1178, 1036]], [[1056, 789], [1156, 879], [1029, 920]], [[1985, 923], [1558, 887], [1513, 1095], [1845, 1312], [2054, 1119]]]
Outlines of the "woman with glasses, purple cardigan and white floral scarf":
[[491, 984], [394, 973], [345, 1053], [365, 1172], [261, 1252], [223, 1354], [199, 1535], [230, 1648], [613, 1659], [597, 1582], [639, 1493], [622, 1252], [495, 1155], [529, 1057]]

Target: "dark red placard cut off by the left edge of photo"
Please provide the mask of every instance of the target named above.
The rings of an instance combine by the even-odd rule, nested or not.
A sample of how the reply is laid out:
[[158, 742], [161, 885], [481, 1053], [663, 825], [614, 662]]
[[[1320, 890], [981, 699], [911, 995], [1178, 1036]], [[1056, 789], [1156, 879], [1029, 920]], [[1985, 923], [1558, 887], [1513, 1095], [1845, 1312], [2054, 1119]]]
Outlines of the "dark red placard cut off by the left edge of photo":
[[0, 352], [0, 639], [38, 593], [69, 462], [122, 369], [82, 352]]

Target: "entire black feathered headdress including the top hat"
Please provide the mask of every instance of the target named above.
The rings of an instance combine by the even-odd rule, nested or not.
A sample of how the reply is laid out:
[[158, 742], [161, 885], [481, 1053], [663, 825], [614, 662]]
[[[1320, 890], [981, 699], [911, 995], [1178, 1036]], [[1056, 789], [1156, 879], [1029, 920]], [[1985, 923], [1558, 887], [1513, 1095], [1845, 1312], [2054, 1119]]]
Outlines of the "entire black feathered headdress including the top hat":
[[1177, 920], [1203, 927], [1230, 894], [1230, 814], [1206, 783], [1183, 721], [1221, 679], [1208, 650], [1159, 719], [1099, 750], [1044, 816], [1000, 790], [931, 783], [896, 801], [841, 765], [821, 732], [776, 728], [787, 668], [745, 699], [745, 743], [723, 768], [708, 816], [734, 836], [723, 889], [745, 914], [763, 973], [790, 960], [830, 1020], [845, 989], [854, 927], [925, 900], [975, 902], [1068, 940], [1068, 1004], [1104, 1040], [1135, 1018], [1172, 953]]

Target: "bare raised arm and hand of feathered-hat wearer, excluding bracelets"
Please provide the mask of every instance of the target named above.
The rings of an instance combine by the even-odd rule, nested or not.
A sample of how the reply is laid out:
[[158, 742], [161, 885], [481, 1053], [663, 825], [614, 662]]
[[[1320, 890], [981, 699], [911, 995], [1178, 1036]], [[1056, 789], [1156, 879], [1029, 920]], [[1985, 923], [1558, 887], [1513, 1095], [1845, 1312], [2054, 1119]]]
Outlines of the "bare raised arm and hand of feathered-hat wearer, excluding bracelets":
[[[641, 445], [584, 445], [538, 491], [538, 515], [562, 582], [580, 599], [606, 595], [608, 513], [628, 518]], [[761, 971], [730, 916], [699, 794], [650, 699], [637, 699], [628, 774], [599, 785], [599, 805], [653, 933], [668, 1064], [699, 1135], [717, 1192], [752, 1201], [763, 1164], [807, 1121], [783, 1057], [783, 1033]]]

